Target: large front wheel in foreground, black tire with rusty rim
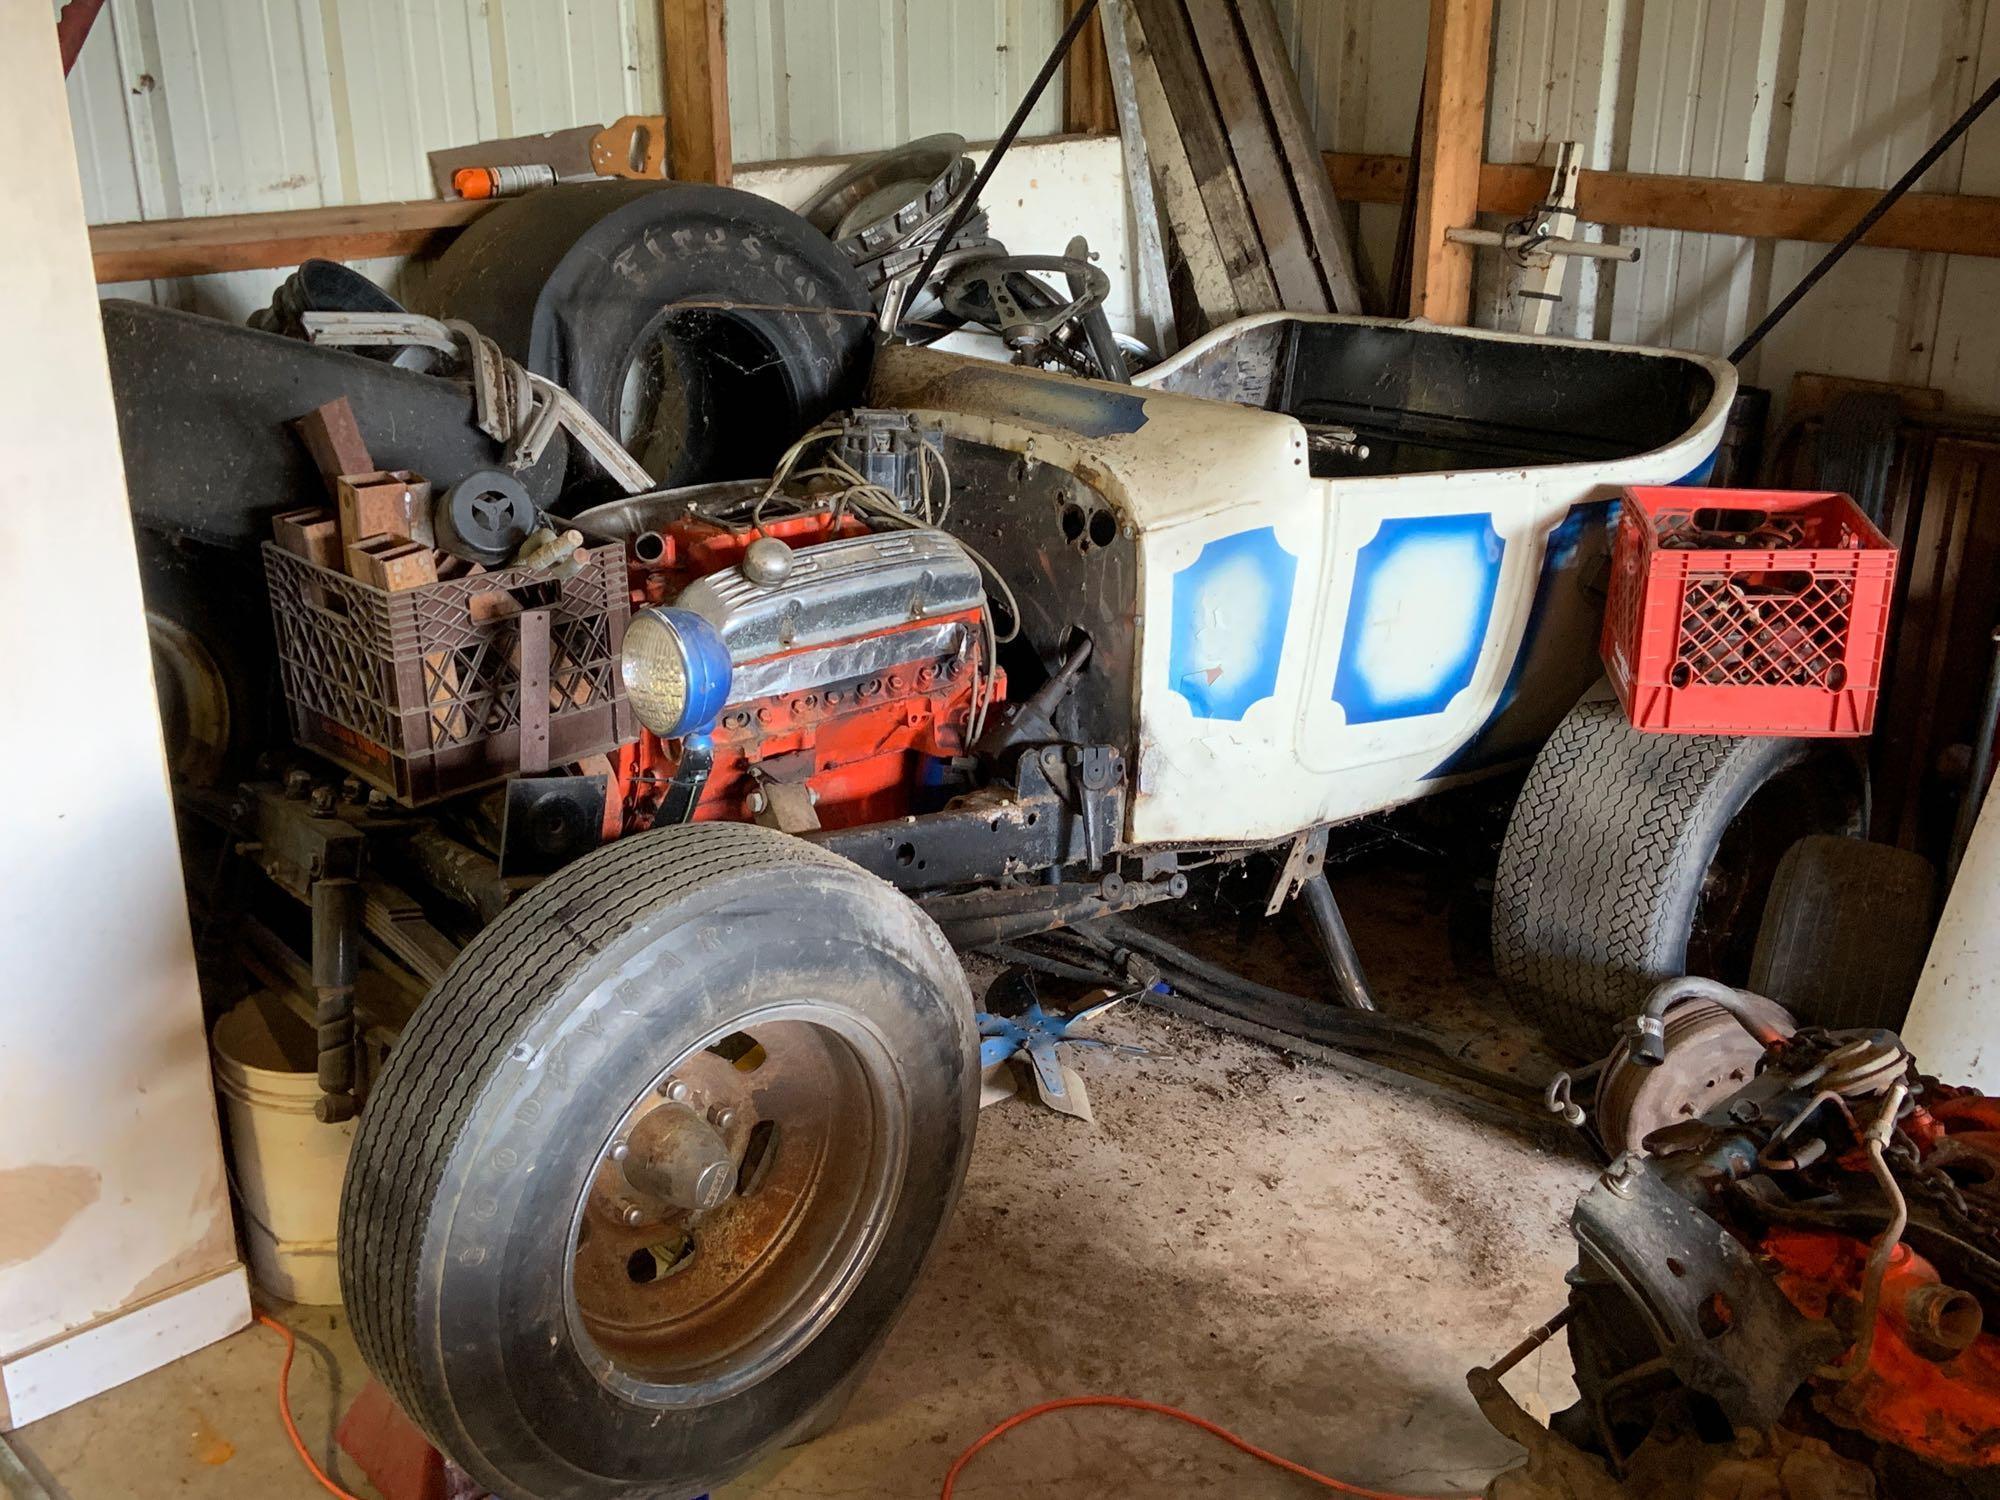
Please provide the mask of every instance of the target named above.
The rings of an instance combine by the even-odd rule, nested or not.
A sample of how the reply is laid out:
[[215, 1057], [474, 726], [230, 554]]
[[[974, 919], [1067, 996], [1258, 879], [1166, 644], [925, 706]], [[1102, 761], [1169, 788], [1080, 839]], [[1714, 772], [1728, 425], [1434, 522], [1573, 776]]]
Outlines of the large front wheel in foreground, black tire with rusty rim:
[[[486, 928], [392, 1050], [342, 1198], [356, 1340], [500, 1496], [702, 1494], [886, 1336], [976, 1102], [964, 974], [902, 894], [764, 828], [620, 840]], [[728, 1152], [720, 1202], [660, 1186], [690, 1150]]]

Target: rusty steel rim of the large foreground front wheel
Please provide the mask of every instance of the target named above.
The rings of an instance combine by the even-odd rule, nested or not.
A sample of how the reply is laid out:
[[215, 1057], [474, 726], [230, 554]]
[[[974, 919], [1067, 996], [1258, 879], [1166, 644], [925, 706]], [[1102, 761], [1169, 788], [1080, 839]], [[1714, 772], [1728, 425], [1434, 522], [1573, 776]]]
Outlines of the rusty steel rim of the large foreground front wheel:
[[[598, 1378], [696, 1406], [806, 1348], [886, 1236], [906, 1116], [882, 1038], [818, 1002], [734, 1020], [662, 1068], [604, 1138], [570, 1220], [566, 1308]], [[728, 1190], [694, 1206], [718, 1150]]]

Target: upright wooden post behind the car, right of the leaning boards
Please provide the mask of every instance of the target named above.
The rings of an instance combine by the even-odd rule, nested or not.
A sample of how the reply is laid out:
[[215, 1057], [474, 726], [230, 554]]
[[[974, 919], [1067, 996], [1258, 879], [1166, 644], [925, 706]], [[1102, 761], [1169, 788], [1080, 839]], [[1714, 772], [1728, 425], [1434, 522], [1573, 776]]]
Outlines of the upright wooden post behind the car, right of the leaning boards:
[[1444, 232], [1468, 228], [1478, 214], [1492, 36], [1494, 0], [1430, 0], [1410, 274], [1414, 318], [1462, 324], [1472, 316], [1472, 250]]

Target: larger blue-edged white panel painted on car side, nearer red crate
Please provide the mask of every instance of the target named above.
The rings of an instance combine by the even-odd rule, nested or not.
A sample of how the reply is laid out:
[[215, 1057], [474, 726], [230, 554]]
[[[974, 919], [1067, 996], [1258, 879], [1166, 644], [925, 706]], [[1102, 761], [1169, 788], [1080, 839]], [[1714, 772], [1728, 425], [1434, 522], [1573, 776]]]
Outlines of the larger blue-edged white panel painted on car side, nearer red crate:
[[1492, 516], [1396, 516], [1354, 558], [1334, 702], [1348, 724], [1440, 712], [1472, 682], [1506, 542]]

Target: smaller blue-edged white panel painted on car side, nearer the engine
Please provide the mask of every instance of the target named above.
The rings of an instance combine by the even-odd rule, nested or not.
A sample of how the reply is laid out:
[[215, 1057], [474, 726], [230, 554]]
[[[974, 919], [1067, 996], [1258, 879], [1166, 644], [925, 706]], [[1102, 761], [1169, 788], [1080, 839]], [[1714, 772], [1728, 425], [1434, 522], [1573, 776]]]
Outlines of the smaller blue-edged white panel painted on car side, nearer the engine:
[[1242, 718], [1276, 692], [1296, 578], [1270, 526], [1210, 542], [1174, 574], [1166, 672], [1198, 718]]

